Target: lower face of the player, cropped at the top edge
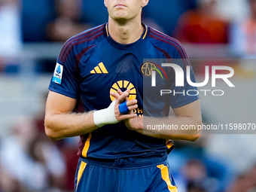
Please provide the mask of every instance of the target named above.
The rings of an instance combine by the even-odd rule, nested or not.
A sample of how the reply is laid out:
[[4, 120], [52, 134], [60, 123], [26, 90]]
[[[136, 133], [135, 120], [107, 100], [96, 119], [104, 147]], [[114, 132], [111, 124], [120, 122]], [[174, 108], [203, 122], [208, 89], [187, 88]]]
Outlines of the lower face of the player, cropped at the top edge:
[[104, 0], [108, 14], [113, 20], [132, 20], [141, 15], [148, 0]]

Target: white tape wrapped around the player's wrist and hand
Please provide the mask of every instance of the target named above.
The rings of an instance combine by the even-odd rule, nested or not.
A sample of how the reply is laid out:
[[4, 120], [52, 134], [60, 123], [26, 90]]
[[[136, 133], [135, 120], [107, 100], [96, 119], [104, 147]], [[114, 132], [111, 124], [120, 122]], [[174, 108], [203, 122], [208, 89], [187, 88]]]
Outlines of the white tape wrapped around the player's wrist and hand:
[[94, 111], [93, 121], [96, 126], [101, 127], [106, 124], [118, 123], [119, 120], [116, 119], [114, 114], [114, 104], [116, 100], [111, 102], [108, 108], [101, 109], [99, 111]]

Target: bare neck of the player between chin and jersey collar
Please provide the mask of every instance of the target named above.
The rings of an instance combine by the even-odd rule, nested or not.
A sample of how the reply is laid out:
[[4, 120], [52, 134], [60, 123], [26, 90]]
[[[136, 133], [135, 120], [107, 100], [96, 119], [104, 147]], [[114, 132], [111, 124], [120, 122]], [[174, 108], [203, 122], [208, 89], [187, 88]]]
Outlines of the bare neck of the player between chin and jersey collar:
[[114, 41], [120, 44], [132, 44], [141, 38], [144, 27], [139, 17], [129, 21], [117, 21], [109, 17], [108, 32]]

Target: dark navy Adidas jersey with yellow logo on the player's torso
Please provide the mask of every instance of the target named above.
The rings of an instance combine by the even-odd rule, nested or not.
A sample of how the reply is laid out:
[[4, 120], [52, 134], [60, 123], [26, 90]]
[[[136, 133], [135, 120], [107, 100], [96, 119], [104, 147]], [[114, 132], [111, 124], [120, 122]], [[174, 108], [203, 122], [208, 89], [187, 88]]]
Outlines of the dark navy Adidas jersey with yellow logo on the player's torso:
[[[198, 99], [198, 96], [183, 94], [169, 94], [156, 102], [149, 99], [149, 108], [155, 110], [144, 113], [143, 78], [148, 76], [146, 78], [151, 79], [151, 70], [147, 70], [151, 69], [149, 66], [160, 66], [160, 63], [152, 64], [151, 59], [171, 59], [183, 69], [190, 65], [181, 44], [155, 29], [145, 26], [138, 41], [133, 44], [119, 44], [108, 34], [108, 24], [103, 24], [66, 41], [57, 59], [49, 90], [77, 99], [83, 111], [92, 111], [108, 108], [114, 99], [110, 92], [130, 89], [129, 99], [138, 100], [139, 108], [134, 112], [139, 117], [143, 114], [151, 116], [151, 111], [154, 111], [152, 116], [164, 117], [169, 114], [169, 106], [178, 108]], [[184, 81], [184, 87], [175, 87], [175, 72], [164, 67], [163, 70], [164, 81], [158, 81], [160, 74], [157, 73], [157, 84], [160, 86], [156, 89], [177, 92], [196, 89], [190, 87], [187, 81]], [[194, 79], [193, 71], [191, 76]], [[128, 130], [121, 121], [81, 136], [78, 155], [102, 159], [160, 157], [171, 148], [171, 142]]]

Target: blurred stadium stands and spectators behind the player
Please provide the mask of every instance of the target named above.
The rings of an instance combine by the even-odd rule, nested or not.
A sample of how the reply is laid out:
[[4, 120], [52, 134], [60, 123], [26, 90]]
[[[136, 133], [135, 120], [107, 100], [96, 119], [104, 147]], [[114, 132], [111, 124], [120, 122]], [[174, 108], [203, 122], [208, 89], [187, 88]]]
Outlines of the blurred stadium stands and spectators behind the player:
[[[143, 11], [145, 24], [204, 61], [192, 62], [197, 81], [207, 59], [235, 70], [234, 89], [220, 81], [224, 96], [201, 96], [203, 123], [256, 123], [255, 2], [150, 0]], [[107, 19], [103, 0], [0, 0], [0, 192], [73, 190], [78, 138], [45, 136], [47, 86], [64, 41]], [[169, 161], [179, 191], [256, 191], [254, 132], [175, 142]]]

